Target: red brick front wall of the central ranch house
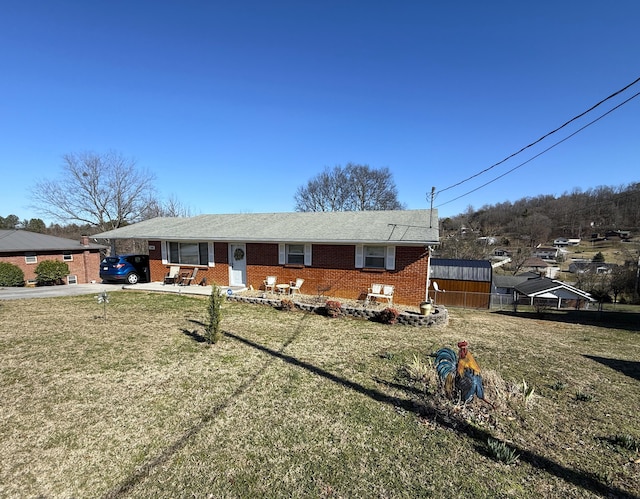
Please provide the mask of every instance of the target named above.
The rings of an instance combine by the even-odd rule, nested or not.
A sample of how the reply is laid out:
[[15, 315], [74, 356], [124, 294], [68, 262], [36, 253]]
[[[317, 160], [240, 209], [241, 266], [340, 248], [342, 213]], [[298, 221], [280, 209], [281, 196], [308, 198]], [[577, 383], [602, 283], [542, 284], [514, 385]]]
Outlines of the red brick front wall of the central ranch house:
[[[151, 280], [162, 281], [170, 265], [162, 264], [159, 241], [149, 241], [154, 250], [149, 251]], [[279, 283], [289, 283], [296, 278], [305, 280], [301, 292], [321, 294], [336, 298], [364, 299], [373, 283], [395, 286], [394, 302], [416, 305], [424, 301], [427, 285], [428, 254], [424, 247], [397, 246], [395, 270], [355, 268], [355, 246], [314, 244], [312, 266], [279, 265], [278, 244], [247, 243], [247, 286], [263, 289], [268, 275], [275, 275]], [[197, 281], [226, 286], [229, 284], [228, 245], [215, 243], [215, 267], [199, 267]]]

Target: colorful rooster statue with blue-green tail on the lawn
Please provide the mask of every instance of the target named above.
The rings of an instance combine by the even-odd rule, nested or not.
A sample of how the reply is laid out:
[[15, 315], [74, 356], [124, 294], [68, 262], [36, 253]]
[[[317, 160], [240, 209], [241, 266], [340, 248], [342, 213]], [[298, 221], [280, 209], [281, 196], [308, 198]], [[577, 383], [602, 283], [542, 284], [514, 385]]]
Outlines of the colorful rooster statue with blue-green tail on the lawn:
[[458, 355], [451, 348], [441, 348], [436, 352], [436, 371], [444, 383], [446, 394], [460, 397], [469, 402], [475, 395], [491, 407], [493, 404], [484, 398], [484, 387], [480, 376], [480, 366], [467, 348], [466, 341], [458, 343]]

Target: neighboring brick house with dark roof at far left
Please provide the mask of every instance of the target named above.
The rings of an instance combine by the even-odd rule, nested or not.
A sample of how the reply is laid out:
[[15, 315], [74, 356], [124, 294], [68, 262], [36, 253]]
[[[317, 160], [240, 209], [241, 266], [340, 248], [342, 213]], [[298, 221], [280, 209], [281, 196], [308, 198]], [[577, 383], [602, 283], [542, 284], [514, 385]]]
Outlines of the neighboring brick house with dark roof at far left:
[[43, 260], [66, 263], [69, 266], [68, 283], [97, 281], [100, 279], [100, 252], [107, 248], [90, 243], [86, 236], [74, 241], [27, 230], [0, 230], [0, 262], [20, 267], [27, 283], [35, 282], [36, 267]]

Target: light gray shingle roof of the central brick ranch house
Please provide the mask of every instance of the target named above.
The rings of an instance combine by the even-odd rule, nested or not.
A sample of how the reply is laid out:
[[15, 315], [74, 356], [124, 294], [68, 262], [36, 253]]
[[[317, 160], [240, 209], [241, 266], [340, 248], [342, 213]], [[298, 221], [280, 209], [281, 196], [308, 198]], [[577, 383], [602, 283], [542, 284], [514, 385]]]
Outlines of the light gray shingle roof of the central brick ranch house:
[[438, 244], [437, 210], [241, 213], [154, 218], [104, 239]]

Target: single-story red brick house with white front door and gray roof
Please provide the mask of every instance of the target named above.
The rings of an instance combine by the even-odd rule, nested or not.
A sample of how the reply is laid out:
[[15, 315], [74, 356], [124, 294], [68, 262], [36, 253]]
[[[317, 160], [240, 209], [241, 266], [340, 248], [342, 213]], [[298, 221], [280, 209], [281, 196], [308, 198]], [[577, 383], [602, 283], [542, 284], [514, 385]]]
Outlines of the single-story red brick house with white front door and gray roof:
[[425, 300], [430, 248], [439, 244], [436, 210], [160, 217], [93, 237], [148, 241], [152, 281], [179, 265], [198, 268], [198, 282], [264, 289], [267, 276], [301, 278], [304, 294], [347, 299], [381, 283], [395, 287], [399, 304]]

